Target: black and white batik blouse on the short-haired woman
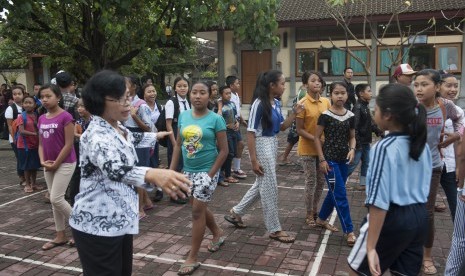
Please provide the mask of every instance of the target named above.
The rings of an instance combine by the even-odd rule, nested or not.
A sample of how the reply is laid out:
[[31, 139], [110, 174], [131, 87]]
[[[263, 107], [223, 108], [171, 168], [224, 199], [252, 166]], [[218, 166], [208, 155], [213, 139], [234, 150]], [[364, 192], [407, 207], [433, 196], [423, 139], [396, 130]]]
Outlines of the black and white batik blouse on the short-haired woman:
[[148, 167], [137, 167], [135, 148], [153, 148], [157, 134], [132, 133], [126, 138], [99, 116], [93, 116], [81, 136], [81, 185], [69, 224], [96, 236], [122, 236], [139, 232], [139, 200], [135, 187], [144, 183]]

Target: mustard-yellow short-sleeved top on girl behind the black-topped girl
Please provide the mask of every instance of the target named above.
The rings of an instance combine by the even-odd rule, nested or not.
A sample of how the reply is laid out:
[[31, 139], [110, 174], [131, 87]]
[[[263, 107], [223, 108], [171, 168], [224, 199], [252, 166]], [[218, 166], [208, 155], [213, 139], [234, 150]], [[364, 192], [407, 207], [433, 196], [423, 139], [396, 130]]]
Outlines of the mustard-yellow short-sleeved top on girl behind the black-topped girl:
[[[296, 118], [303, 119], [304, 130], [311, 135], [315, 135], [318, 117], [320, 117], [321, 113], [329, 109], [331, 102], [324, 97], [315, 100], [307, 93], [299, 103], [304, 105], [304, 111], [298, 113]], [[302, 136], [299, 138], [297, 154], [301, 156], [318, 156], [313, 141], [305, 139]]]

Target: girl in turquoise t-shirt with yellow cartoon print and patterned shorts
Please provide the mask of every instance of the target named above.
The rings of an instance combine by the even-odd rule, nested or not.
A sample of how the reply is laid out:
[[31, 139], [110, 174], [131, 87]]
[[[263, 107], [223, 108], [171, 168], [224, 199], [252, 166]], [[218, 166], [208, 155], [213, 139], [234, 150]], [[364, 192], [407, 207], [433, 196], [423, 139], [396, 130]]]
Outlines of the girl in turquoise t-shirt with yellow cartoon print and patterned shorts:
[[182, 153], [184, 174], [192, 181], [192, 247], [178, 275], [190, 275], [199, 266], [197, 255], [207, 226], [213, 234], [208, 251], [224, 243], [223, 230], [216, 224], [208, 202], [213, 196], [218, 171], [226, 160], [228, 143], [223, 117], [208, 109], [210, 92], [205, 83], [196, 83], [190, 92], [191, 110], [179, 115], [178, 135], [170, 169], [175, 170]]

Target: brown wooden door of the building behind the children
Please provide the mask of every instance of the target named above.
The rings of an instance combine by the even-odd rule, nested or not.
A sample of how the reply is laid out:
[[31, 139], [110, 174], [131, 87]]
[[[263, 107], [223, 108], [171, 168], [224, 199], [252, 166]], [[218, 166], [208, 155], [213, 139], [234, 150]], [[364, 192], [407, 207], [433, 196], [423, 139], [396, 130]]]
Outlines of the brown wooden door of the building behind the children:
[[258, 74], [271, 69], [271, 51], [242, 51], [241, 99], [245, 104], [252, 101]]

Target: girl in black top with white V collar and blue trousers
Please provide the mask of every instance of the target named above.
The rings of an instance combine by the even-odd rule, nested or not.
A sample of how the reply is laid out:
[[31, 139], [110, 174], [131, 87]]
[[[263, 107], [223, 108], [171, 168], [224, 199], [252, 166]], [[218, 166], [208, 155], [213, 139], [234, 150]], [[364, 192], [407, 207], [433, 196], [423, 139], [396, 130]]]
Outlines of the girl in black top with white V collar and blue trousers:
[[315, 131], [317, 138], [324, 133], [325, 142], [322, 145], [320, 139], [314, 140], [318, 160], [320, 160], [320, 171], [325, 174], [328, 184], [328, 194], [315, 224], [337, 232], [338, 229], [326, 221], [336, 208], [342, 230], [347, 234], [347, 245], [353, 246], [356, 237], [350, 217], [345, 183], [347, 164], [352, 163], [355, 154], [355, 117], [354, 113], [344, 107], [348, 99], [345, 83], [331, 83], [329, 92], [333, 104], [318, 117]]

